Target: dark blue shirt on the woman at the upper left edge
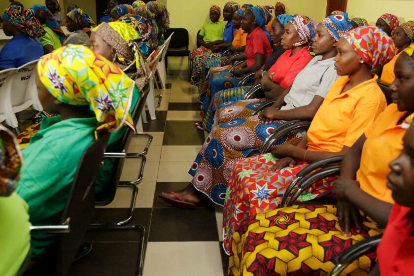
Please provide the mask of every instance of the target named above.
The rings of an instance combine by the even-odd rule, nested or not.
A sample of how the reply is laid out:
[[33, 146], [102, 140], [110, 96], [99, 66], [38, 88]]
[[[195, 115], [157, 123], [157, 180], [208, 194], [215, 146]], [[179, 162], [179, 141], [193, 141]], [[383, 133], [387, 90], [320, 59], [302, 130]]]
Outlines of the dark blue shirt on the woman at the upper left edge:
[[43, 46], [36, 38], [16, 35], [0, 51], [0, 68], [18, 68], [43, 55]]

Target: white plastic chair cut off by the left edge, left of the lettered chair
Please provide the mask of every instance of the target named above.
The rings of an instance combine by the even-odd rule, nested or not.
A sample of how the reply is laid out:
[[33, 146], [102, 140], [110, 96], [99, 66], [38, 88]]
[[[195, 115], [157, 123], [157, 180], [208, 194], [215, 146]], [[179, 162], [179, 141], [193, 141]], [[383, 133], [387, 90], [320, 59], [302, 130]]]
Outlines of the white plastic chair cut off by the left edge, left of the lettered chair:
[[17, 124], [17, 118], [14, 113], [7, 112], [7, 110], [12, 109], [8, 99], [8, 91], [11, 89], [13, 74], [16, 71], [17, 68], [0, 71], [0, 122], [6, 121], [6, 124], [9, 126]]

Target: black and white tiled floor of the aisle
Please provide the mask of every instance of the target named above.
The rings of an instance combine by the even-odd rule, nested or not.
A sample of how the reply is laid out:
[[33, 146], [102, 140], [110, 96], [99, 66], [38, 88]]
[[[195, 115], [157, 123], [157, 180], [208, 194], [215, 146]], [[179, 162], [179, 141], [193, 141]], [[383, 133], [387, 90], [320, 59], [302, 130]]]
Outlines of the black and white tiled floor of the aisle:
[[[197, 131], [198, 90], [186, 77], [169, 77], [162, 91], [157, 119], [144, 124], [153, 135], [145, 165], [133, 224], [142, 224], [148, 243], [144, 276], [227, 275], [228, 258], [221, 249], [222, 209], [213, 205], [186, 210], [167, 205], [158, 198], [163, 191], [175, 191], [191, 180], [191, 167], [205, 134]], [[149, 118], [149, 116], [147, 116]], [[133, 138], [129, 151], [140, 151], [145, 140]], [[139, 161], [126, 161], [121, 180], [137, 176]], [[114, 202], [96, 209], [96, 220], [115, 222], [126, 216], [131, 192], [119, 188]], [[70, 275], [133, 276], [138, 261], [139, 236], [134, 231], [88, 232], [92, 252], [75, 262]]]

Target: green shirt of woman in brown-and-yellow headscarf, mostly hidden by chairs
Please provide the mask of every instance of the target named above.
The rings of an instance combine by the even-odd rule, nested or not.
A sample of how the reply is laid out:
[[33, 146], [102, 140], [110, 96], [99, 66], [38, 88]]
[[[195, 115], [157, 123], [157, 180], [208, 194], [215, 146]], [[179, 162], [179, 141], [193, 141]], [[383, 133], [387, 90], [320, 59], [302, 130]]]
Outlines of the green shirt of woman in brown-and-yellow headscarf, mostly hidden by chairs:
[[[140, 93], [136, 86], [134, 86], [134, 92], [132, 94], [132, 103], [131, 106], [134, 106], [134, 109], [137, 105]], [[132, 109], [132, 108], [131, 108]], [[130, 115], [134, 111], [134, 109], [130, 110]], [[118, 147], [121, 139], [124, 137], [125, 132], [127, 131], [127, 127], [123, 126], [118, 129], [116, 132], [112, 133], [109, 137], [108, 145], [106, 147], [107, 152], [119, 152], [122, 149]], [[109, 185], [113, 173], [113, 163], [115, 162], [115, 158], [104, 158], [104, 166], [99, 168], [97, 175], [95, 176], [95, 193], [102, 192], [107, 185]], [[138, 176], [138, 175], [137, 175]]]

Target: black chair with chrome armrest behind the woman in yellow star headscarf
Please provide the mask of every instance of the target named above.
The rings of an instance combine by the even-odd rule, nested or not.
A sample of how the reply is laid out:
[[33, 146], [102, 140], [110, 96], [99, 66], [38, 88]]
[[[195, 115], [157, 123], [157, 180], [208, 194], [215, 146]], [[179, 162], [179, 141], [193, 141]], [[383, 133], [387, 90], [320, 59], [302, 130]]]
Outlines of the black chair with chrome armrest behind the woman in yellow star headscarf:
[[[101, 166], [110, 134], [98, 138], [80, 158], [65, 210], [59, 225], [32, 226], [31, 232], [62, 234], [38, 265], [41, 275], [66, 276], [91, 221], [94, 210], [94, 178]], [[52, 260], [51, 260], [52, 259]], [[46, 265], [47, 263], [47, 265]], [[50, 272], [49, 272], [50, 270]], [[46, 271], [46, 272], [45, 272]]]

